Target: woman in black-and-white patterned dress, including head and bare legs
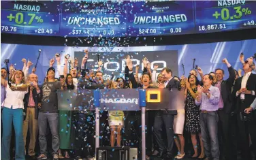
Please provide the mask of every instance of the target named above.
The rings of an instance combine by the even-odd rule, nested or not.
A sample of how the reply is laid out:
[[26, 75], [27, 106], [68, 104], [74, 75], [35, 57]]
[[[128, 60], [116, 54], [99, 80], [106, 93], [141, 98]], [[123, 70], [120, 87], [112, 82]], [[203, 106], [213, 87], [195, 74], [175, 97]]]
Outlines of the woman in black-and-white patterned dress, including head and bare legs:
[[191, 74], [186, 80], [186, 90], [185, 90], [185, 112], [186, 112], [186, 122], [185, 129], [191, 133], [191, 140], [194, 148], [194, 155], [192, 158], [198, 157], [197, 153], [197, 135], [199, 136], [201, 154], [199, 159], [204, 158], [204, 144], [202, 142], [202, 137], [200, 133], [200, 124], [199, 124], [199, 106], [195, 105], [195, 98], [197, 97], [197, 85], [199, 85], [199, 80], [196, 76]]

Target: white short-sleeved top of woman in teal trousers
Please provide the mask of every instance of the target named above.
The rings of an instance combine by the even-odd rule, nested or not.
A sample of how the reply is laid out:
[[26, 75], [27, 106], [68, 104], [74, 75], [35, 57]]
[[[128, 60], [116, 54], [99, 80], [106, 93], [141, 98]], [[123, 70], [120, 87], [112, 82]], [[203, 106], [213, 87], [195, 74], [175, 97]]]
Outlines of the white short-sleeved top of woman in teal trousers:
[[[22, 86], [23, 84], [17, 84], [17, 86]], [[24, 102], [23, 99], [25, 97], [25, 94], [28, 93], [28, 91], [12, 91], [10, 89], [10, 86], [7, 85], [6, 87], [6, 98], [3, 101], [2, 105], [6, 108], [12, 108], [12, 109], [24, 109]]]

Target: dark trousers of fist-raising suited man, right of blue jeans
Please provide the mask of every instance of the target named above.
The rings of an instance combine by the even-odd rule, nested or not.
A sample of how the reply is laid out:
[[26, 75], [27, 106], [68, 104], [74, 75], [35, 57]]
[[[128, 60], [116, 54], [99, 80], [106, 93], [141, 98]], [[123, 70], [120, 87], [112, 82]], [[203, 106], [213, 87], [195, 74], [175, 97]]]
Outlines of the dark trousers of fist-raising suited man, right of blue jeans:
[[229, 134], [230, 116], [229, 114], [225, 114], [223, 110], [218, 110], [217, 113], [219, 116], [218, 138], [220, 146], [220, 155], [221, 157], [225, 157], [226, 160], [231, 160]]

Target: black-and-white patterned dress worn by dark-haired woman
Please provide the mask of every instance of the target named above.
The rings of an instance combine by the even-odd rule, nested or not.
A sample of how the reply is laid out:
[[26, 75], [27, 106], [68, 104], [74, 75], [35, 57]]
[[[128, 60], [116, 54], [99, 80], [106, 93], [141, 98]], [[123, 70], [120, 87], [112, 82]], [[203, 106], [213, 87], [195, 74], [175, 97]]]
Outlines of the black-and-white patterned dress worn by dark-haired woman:
[[[197, 87], [192, 89], [194, 93], [197, 92]], [[187, 98], [186, 98], [186, 120], [185, 120], [185, 129], [189, 132], [199, 132], [200, 124], [199, 124], [199, 113], [200, 106], [195, 104], [195, 99], [193, 99], [189, 90], [187, 90]]]

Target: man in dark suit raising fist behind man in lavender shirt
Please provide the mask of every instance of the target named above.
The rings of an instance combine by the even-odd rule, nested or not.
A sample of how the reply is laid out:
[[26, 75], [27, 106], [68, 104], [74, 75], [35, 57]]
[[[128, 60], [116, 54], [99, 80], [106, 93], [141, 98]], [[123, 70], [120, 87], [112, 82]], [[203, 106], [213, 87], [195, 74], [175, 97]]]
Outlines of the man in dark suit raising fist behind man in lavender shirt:
[[230, 113], [231, 113], [231, 99], [230, 99], [230, 93], [231, 88], [233, 86], [234, 80], [236, 78], [235, 71], [233, 67], [229, 64], [227, 59], [223, 59], [223, 63], [227, 65], [228, 71], [229, 71], [229, 78], [227, 80], [223, 80], [224, 78], [224, 70], [223, 69], [215, 69], [215, 74], [217, 77], [217, 88], [219, 88], [219, 91], [221, 91], [221, 96], [219, 100], [219, 110], [217, 111], [219, 116], [219, 124], [218, 124], [218, 131], [219, 131], [219, 144], [220, 151], [221, 151], [221, 157], [225, 157], [225, 159], [231, 159], [230, 153], [229, 153], [229, 119], [230, 119]]

